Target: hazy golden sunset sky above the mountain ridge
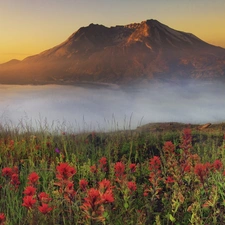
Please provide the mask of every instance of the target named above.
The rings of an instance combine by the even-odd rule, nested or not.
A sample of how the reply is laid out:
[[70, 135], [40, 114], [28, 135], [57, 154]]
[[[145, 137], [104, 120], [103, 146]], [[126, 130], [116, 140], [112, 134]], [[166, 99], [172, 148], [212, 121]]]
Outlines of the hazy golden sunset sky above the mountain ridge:
[[0, 0], [0, 63], [52, 48], [90, 23], [147, 19], [225, 48], [225, 0]]

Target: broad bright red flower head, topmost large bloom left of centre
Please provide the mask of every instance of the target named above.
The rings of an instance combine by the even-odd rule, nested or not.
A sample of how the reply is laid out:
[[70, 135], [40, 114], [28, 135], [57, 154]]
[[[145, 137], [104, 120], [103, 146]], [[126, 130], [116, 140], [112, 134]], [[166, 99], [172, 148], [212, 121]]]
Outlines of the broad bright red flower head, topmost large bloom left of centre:
[[58, 172], [56, 177], [59, 180], [67, 180], [68, 178], [72, 177], [76, 173], [75, 168], [70, 166], [68, 163], [60, 163], [56, 167], [56, 170]]

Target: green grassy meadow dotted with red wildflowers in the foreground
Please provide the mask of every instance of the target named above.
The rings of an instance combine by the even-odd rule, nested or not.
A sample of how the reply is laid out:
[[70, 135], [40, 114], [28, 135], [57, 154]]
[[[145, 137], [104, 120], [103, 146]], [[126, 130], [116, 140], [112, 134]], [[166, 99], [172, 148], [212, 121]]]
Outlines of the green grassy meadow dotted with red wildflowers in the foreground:
[[0, 132], [0, 225], [225, 224], [222, 131]]

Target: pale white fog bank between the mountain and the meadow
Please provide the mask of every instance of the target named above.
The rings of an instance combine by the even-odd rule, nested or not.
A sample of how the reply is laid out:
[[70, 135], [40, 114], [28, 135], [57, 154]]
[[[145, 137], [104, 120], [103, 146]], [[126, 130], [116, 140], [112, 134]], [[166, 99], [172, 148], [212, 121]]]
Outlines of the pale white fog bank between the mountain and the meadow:
[[219, 82], [154, 83], [144, 87], [0, 85], [0, 124], [134, 129], [150, 122], [225, 121]]

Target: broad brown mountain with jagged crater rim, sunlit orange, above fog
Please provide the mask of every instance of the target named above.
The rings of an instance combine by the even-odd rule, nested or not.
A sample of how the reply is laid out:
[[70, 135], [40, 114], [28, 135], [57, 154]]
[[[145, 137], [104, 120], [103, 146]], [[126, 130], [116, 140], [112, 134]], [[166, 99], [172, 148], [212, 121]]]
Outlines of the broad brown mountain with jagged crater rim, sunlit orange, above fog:
[[157, 20], [81, 27], [65, 42], [0, 65], [0, 83], [131, 84], [152, 80], [225, 80], [225, 49]]

